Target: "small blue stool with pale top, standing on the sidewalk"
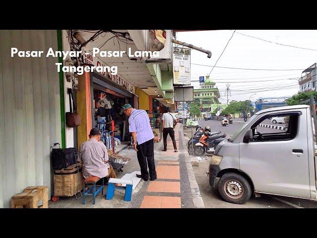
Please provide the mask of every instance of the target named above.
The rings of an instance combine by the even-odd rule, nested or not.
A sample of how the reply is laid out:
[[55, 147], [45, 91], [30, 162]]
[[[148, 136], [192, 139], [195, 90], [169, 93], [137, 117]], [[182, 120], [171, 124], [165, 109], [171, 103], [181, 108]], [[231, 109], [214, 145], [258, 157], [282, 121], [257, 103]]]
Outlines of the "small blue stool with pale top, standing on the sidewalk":
[[[126, 184], [125, 187], [123, 186], [115, 186], [115, 183], [124, 183]], [[125, 190], [124, 192], [124, 201], [131, 201], [132, 197], [132, 186], [133, 186], [133, 181], [128, 180], [128, 179], [109, 179], [108, 181], [108, 188], [107, 188], [107, 195], [106, 199], [111, 200], [114, 195], [114, 190]]]

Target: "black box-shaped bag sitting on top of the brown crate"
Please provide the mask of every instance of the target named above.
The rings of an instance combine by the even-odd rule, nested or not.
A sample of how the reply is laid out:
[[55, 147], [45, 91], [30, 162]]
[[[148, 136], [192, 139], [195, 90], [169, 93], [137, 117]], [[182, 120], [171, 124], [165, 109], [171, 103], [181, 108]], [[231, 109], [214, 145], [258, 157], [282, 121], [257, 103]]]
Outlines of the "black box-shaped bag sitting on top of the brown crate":
[[[53, 147], [55, 145], [59, 145], [59, 143], [53, 144]], [[78, 154], [75, 150], [75, 148], [53, 148], [52, 149], [52, 166], [53, 169], [64, 169], [68, 166], [71, 166], [73, 164], [77, 163], [77, 156]]]

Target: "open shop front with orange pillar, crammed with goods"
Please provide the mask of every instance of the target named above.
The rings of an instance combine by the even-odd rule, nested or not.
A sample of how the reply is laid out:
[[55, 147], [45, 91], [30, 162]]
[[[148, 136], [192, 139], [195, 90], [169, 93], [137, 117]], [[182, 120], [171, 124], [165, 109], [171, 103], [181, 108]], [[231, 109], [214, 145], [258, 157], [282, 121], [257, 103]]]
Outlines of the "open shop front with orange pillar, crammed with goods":
[[88, 139], [93, 127], [106, 131], [103, 140], [108, 149], [114, 146], [117, 151], [125, 144], [121, 142], [130, 141], [128, 120], [122, 110], [127, 103], [138, 108], [138, 96], [133, 93], [135, 88], [130, 89], [132, 91], [126, 84], [119, 85], [100, 73], [86, 73], [79, 78], [77, 107], [82, 125], [77, 128], [78, 148]]

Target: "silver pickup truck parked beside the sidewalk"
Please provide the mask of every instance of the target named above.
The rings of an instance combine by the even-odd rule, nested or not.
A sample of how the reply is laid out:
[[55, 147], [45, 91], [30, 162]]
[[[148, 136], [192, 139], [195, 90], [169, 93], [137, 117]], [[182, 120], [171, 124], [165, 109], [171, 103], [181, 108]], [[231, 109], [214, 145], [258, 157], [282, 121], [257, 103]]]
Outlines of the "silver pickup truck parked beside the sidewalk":
[[[237, 204], [260, 193], [317, 200], [316, 120], [310, 109], [296, 105], [257, 112], [217, 145], [209, 166], [210, 185], [225, 201]], [[261, 133], [262, 121], [273, 117], [289, 121]]]

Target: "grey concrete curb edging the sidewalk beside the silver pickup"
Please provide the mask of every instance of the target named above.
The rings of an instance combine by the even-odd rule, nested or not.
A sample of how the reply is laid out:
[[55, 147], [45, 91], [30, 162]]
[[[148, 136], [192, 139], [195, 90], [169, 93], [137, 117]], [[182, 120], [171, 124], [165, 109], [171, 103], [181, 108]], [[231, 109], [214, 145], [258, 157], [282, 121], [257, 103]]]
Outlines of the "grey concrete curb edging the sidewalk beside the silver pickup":
[[194, 174], [193, 166], [192, 166], [192, 163], [190, 161], [189, 154], [187, 152], [187, 145], [186, 145], [186, 140], [185, 140], [184, 131], [183, 131], [182, 127], [180, 129], [180, 133], [181, 133], [181, 136], [182, 136], [185, 163], [186, 163], [186, 168], [187, 168], [187, 173], [188, 173], [188, 180], [189, 180], [189, 183], [190, 183], [190, 190], [191, 190], [191, 195], [192, 195], [192, 198], [193, 198], [194, 208], [205, 208], [203, 198], [200, 195], [200, 191], [199, 191], [198, 183], [196, 181], [196, 177], [195, 177], [195, 174]]

